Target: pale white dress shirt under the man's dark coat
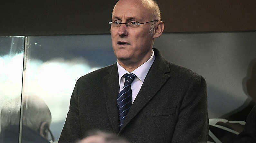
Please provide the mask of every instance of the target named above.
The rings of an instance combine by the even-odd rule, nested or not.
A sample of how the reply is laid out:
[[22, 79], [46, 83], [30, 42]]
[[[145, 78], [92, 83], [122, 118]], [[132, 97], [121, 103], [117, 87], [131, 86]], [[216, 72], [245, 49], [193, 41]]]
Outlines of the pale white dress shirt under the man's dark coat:
[[[146, 75], [155, 59], [156, 57], [154, 55], [154, 51], [152, 50], [152, 55], [149, 58], [149, 60], [147, 60], [144, 64], [142, 64], [141, 66], [139, 66], [138, 68], [136, 68], [134, 71], [131, 72], [137, 76], [131, 84], [132, 103], [137, 97], [137, 94], [142, 86], [142, 83], [144, 82]], [[119, 92], [120, 92], [124, 87], [124, 77], [122, 76], [127, 73], [128, 74], [130, 73], [127, 70], [125, 70], [122, 66], [120, 66], [118, 62], [117, 62], [117, 68], [118, 68], [118, 75], [119, 75], [119, 87], [120, 87]]]

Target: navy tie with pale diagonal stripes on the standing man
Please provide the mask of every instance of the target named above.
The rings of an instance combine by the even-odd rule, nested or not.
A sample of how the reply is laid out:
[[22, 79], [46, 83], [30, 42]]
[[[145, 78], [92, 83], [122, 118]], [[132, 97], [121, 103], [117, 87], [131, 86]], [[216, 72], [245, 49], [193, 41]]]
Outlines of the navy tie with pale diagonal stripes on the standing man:
[[124, 77], [124, 87], [119, 92], [117, 98], [117, 107], [119, 112], [119, 129], [124, 123], [124, 119], [132, 106], [132, 89], [131, 83], [136, 78], [136, 75], [133, 73], [125, 74]]

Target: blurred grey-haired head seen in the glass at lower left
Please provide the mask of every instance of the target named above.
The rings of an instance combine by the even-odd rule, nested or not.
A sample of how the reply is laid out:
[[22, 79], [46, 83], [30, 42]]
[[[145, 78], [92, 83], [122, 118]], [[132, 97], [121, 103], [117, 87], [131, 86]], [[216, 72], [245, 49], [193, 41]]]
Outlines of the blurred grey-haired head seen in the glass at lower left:
[[[22, 108], [20, 108], [22, 105]], [[20, 110], [22, 109], [22, 120], [20, 120]], [[19, 126], [22, 121], [23, 127], [40, 134], [43, 138], [48, 138], [49, 126], [52, 121], [51, 112], [45, 102], [38, 96], [22, 96], [7, 101], [1, 109], [1, 132], [9, 126]]]

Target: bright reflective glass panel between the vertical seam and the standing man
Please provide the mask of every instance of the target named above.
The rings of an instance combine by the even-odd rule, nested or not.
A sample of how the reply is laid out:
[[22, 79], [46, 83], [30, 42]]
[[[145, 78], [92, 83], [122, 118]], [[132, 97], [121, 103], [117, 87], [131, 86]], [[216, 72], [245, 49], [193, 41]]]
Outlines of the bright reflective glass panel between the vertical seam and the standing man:
[[[55, 141], [64, 125], [71, 93], [79, 77], [116, 61], [110, 35], [88, 36], [28, 36], [23, 95], [34, 105], [40, 103], [35, 114], [24, 108], [24, 115], [47, 118], [34, 121], [37, 131], [42, 123], [50, 126]], [[50, 109], [50, 112], [48, 110]], [[51, 114], [49, 114], [51, 113]], [[35, 114], [35, 115], [33, 115]], [[23, 131], [24, 135], [24, 131]], [[49, 130], [46, 135], [51, 140]], [[25, 138], [23, 136], [23, 138]]]

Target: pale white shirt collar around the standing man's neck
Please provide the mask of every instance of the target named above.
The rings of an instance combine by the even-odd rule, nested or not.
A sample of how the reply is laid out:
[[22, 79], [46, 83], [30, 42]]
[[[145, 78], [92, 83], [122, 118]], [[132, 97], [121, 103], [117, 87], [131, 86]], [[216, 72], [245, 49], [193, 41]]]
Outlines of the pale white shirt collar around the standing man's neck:
[[[149, 58], [149, 60], [147, 60], [144, 64], [140, 65], [138, 68], [136, 68], [134, 71], [132, 71], [132, 73], [135, 74], [141, 82], [144, 82], [146, 75], [155, 59], [156, 59], [156, 57], [154, 55], [154, 51], [152, 50], [152, 55]], [[117, 62], [117, 68], [118, 68], [119, 84], [120, 84], [120, 80], [121, 80], [122, 76], [129, 72], [127, 70], [125, 70], [122, 66], [120, 66], [118, 62]]]

